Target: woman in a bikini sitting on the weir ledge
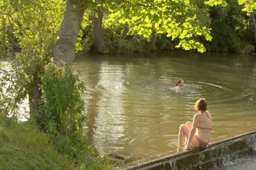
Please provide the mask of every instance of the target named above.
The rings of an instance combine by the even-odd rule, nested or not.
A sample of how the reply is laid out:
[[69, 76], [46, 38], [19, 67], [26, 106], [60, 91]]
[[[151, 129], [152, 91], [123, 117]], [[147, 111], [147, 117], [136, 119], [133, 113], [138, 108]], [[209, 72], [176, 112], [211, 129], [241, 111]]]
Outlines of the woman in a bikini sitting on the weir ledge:
[[186, 149], [194, 147], [206, 147], [210, 141], [212, 131], [212, 115], [207, 111], [207, 103], [204, 98], [195, 102], [195, 110], [198, 111], [193, 118], [193, 123], [186, 122], [180, 125], [178, 152], [183, 150], [183, 143], [186, 137]]

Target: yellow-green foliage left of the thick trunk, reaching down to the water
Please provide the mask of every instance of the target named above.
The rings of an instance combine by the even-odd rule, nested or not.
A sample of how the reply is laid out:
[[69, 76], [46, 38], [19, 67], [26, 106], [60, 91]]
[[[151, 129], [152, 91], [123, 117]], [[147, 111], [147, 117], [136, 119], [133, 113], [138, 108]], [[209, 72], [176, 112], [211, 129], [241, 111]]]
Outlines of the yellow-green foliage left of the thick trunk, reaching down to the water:
[[[65, 2], [0, 0], [0, 4], [2, 5], [0, 18], [4, 18], [6, 28], [11, 30], [11, 36], [21, 48], [8, 74], [11, 79], [1, 77], [1, 82], [10, 84], [8, 93], [5, 94], [10, 94], [9, 98], [13, 99], [8, 102], [9, 105], [6, 105], [6, 113], [13, 113], [22, 99], [27, 98], [30, 88], [35, 83], [39, 84], [39, 74], [42, 73], [42, 67], [51, 56], [56, 33], [61, 25]], [[2, 28], [0, 30], [1, 35], [8, 35]]]

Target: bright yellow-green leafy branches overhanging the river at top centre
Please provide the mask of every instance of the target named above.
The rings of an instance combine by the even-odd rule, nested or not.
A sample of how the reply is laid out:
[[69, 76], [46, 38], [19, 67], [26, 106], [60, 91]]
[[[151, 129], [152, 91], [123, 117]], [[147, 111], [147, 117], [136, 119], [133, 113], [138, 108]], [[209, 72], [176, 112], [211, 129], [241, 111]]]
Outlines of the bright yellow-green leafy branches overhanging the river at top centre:
[[[206, 1], [209, 6], [223, 4], [222, 1]], [[108, 3], [106, 3], [106, 7]], [[108, 6], [108, 14], [104, 20], [105, 26], [120, 26], [128, 24], [129, 35], [140, 35], [150, 38], [154, 33], [165, 34], [172, 40], [183, 40], [177, 47], [188, 49], [205, 48], [198, 42], [196, 37], [205, 37], [210, 41], [209, 9], [204, 1], [167, 1], [167, 0], [144, 0], [131, 1], [131, 3], [116, 3]], [[197, 39], [197, 40], [196, 40]], [[191, 41], [189, 41], [191, 40]], [[185, 45], [187, 43], [187, 45]], [[195, 43], [193, 45], [193, 43]]]

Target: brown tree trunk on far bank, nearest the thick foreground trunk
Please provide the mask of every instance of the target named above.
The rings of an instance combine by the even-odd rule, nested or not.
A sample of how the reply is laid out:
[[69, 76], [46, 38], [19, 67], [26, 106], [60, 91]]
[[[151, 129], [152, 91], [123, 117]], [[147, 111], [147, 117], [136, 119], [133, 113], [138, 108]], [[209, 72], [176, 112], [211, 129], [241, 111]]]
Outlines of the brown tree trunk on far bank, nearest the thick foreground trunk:
[[95, 50], [101, 54], [107, 54], [109, 53], [109, 48], [107, 48], [107, 45], [104, 41], [104, 33], [102, 31], [102, 7], [99, 6], [98, 8], [98, 17], [94, 18], [94, 47]]

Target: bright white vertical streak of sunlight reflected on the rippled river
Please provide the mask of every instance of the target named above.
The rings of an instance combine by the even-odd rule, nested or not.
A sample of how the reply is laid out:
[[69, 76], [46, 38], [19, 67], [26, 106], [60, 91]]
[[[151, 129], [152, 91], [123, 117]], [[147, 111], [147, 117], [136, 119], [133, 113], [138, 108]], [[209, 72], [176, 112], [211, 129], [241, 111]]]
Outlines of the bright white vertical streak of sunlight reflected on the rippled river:
[[[109, 71], [111, 71], [111, 76], [109, 76]], [[124, 75], [122, 65], [117, 65], [113, 69], [107, 62], [101, 62], [96, 89], [101, 89], [104, 93], [99, 96], [95, 110], [98, 115], [95, 118], [97, 127], [94, 132], [94, 145], [99, 150], [105, 150], [107, 147], [111, 150], [123, 149], [123, 147], [109, 145], [109, 143], [118, 144], [123, 137], [126, 120], [123, 107]]]

